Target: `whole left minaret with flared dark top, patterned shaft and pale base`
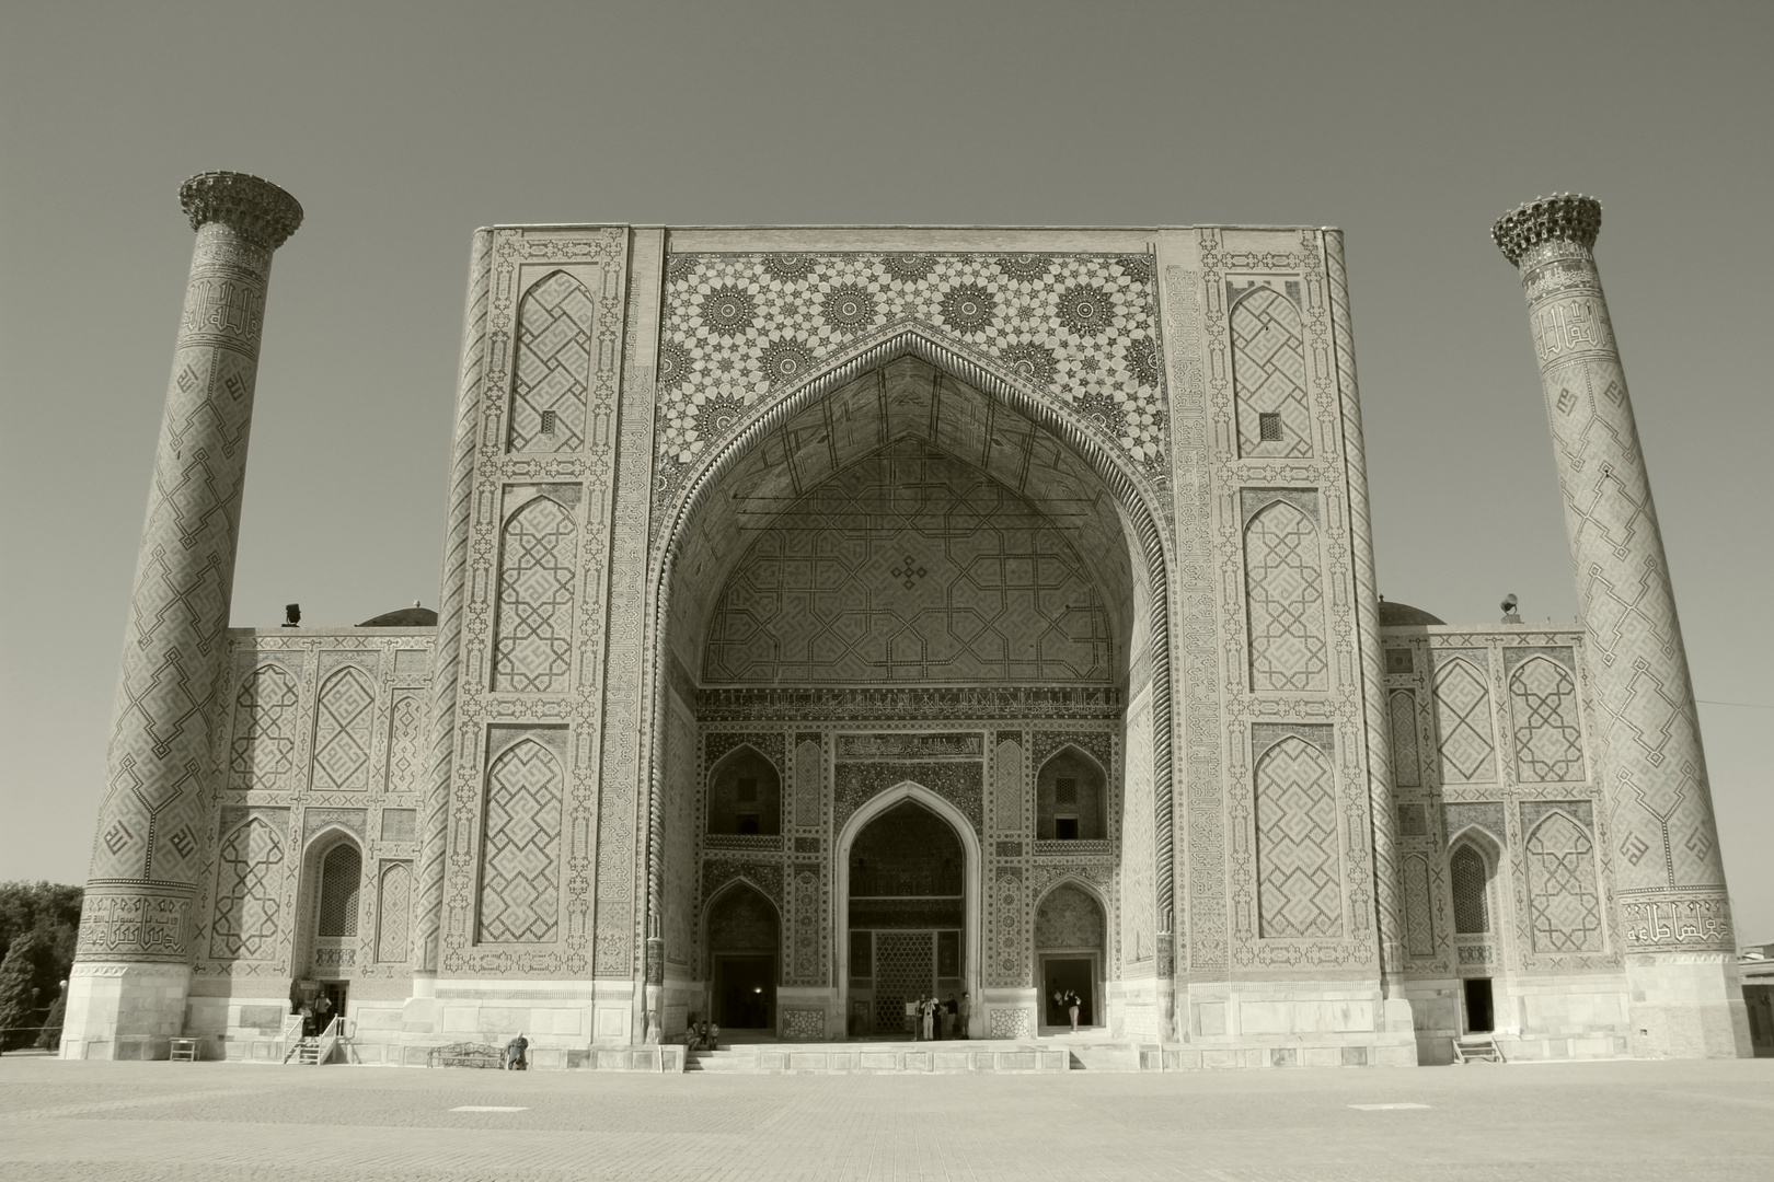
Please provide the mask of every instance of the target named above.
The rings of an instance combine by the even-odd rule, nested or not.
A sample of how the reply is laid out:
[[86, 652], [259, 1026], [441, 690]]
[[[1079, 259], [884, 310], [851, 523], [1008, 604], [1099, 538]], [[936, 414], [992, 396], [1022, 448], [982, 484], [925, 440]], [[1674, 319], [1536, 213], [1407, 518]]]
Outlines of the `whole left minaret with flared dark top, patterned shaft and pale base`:
[[302, 206], [270, 181], [179, 188], [197, 230], [105, 766], [62, 1054], [165, 1058], [181, 1033], [208, 854], [216, 693], [271, 252]]

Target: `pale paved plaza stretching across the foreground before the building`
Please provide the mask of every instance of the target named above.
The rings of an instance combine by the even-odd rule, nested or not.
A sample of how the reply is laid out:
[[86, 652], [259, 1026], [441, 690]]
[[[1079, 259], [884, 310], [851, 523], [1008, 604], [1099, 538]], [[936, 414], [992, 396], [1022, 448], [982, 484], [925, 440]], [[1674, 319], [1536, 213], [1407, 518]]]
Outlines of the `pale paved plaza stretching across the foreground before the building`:
[[646, 1076], [0, 1058], [0, 1178], [1774, 1178], [1774, 1060]]

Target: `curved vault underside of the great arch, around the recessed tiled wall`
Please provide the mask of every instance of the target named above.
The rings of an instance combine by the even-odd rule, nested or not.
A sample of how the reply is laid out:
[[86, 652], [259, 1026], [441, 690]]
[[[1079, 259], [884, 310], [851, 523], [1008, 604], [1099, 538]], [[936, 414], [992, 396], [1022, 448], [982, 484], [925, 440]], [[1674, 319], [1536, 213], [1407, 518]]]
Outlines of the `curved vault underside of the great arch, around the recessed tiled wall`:
[[[671, 636], [687, 668], [706, 668], [704, 656], [690, 645], [703, 636], [717, 636], [711, 622], [715, 599], [724, 595], [734, 571], [750, 562], [754, 542], [773, 530], [786, 510], [804, 503], [834, 477], [901, 441], [917, 441], [924, 452], [944, 454], [956, 468], [946, 480], [977, 486], [974, 509], [986, 503], [979, 498], [986, 498], [1011, 517], [1036, 514], [1061, 535], [1089, 571], [1107, 615], [1111, 654], [1125, 663], [1137, 588], [1114, 494], [1045, 427], [926, 362], [901, 358], [832, 392], [772, 431], [701, 502], [681, 539], [671, 594]], [[883, 571], [891, 572], [892, 565]], [[919, 581], [928, 583], [930, 578], [926, 574]], [[899, 588], [901, 594], [908, 590], [915, 588]], [[731, 657], [722, 657], [720, 668], [731, 670]], [[733, 677], [734, 672], [724, 675]], [[745, 680], [752, 677], [761, 673]], [[970, 680], [999, 677], [979, 673]], [[1089, 679], [1112, 680], [1107, 672]]]

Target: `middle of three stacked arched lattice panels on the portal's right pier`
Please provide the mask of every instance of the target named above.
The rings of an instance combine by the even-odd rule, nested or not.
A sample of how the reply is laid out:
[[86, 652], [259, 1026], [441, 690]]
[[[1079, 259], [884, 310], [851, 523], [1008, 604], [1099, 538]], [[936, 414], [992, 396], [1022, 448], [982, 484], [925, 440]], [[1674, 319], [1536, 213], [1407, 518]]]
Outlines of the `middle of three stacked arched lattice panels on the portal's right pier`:
[[1252, 689], [1327, 689], [1318, 526], [1274, 502], [1244, 532]]

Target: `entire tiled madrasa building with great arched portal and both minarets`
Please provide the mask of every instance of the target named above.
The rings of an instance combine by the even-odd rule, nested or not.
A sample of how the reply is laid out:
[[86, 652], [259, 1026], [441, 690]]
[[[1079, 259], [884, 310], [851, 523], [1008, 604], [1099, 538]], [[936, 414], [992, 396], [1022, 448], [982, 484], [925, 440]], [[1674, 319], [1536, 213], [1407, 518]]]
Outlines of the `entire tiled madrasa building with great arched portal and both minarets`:
[[1018, 1069], [1068, 992], [1146, 1069], [1749, 1053], [1595, 200], [1494, 229], [1579, 624], [1377, 594], [1338, 230], [513, 225], [436, 611], [231, 627], [302, 209], [181, 198], [64, 1058], [325, 996], [371, 1063]]

